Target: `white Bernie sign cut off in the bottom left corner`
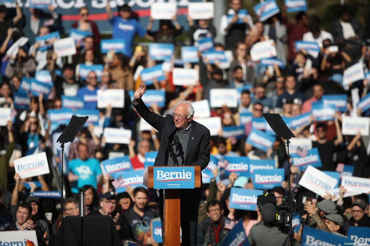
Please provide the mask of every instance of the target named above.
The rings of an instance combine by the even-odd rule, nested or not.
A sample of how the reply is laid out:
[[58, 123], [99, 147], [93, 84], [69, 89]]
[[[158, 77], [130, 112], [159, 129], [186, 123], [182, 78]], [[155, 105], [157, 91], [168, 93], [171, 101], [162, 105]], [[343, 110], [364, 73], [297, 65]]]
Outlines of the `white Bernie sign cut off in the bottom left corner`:
[[0, 245], [38, 246], [36, 231], [27, 230], [27, 231], [0, 232]]

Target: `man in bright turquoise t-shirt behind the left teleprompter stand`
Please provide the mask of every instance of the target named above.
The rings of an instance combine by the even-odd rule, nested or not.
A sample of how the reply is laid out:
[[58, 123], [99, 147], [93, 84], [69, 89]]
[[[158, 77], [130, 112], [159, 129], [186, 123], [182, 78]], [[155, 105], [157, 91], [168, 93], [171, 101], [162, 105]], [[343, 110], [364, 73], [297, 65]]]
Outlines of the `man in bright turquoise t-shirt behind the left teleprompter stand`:
[[[97, 184], [101, 179], [101, 169], [97, 159], [88, 158], [88, 147], [80, 143], [77, 147], [79, 159], [71, 160], [68, 165], [70, 173], [68, 180], [73, 182], [72, 193], [77, 194], [78, 189], [85, 185], [92, 185], [97, 189]], [[77, 176], [78, 176], [78, 179]]]

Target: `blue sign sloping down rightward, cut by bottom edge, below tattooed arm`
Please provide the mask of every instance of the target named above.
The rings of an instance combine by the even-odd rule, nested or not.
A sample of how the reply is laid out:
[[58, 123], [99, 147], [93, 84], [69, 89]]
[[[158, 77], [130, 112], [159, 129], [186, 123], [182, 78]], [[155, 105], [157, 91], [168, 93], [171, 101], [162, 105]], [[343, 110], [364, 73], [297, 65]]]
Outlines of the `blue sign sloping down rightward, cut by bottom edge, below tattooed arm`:
[[303, 228], [301, 245], [354, 245], [354, 242], [344, 236], [337, 236], [331, 232], [305, 226]]

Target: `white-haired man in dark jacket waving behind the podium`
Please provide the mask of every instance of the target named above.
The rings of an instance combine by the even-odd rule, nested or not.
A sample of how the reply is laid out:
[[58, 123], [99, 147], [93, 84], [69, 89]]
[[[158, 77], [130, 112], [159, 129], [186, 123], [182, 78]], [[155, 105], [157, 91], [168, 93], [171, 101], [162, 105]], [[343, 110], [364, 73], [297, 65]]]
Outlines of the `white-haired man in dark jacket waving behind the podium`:
[[[154, 166], [201, 166], [209, 163], [209, 130], [193, 120], [194, 108], [187, 101], [179, 101], [175, 105], [172, 115], [162, 117], [149, 111], [141, 100], [147, 90], [140, 84], [134, 93], [132, 104], [145, 121], [161, 133], [159, 146]], [[169, 141], [169, 155], [165, 141]], [[174, 140], [175, 139], [175, 140]], [[177, 143], [177, 145], [176, 145]], [[175, 148], [172, 146], [176, 145]], [[198, 207], [202, 198], [202, 186], [195, 189], [182, 189], [180, 192], [182, 245], [196, 246], [196, 229], [198, 221]], [[163, 228], [163, 192], [159, 193], [159, 206]]]

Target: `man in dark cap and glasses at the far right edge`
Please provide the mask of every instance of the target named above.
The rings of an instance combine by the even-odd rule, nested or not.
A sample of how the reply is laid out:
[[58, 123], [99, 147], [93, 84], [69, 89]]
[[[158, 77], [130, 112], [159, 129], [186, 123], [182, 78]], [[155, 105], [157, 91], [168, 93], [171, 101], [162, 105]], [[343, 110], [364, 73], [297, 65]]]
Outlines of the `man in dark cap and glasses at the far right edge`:
[[367, 215], [369, 206], [362, 199], [356, 199], [352, 203], [352, 218], [349, 220], [350, 226], [370, 227], [370, 217]]

